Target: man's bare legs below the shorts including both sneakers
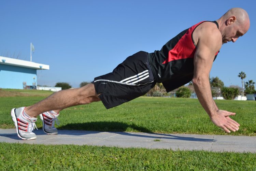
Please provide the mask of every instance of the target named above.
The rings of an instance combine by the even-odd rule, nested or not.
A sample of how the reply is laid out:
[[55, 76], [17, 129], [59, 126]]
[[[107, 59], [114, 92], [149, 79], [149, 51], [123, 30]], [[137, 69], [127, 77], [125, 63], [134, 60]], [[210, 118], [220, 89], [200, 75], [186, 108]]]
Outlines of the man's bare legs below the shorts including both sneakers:
[[35, 139], [37, 136], [32, 131], [36, 127], [35, 122], [37, 121], [38, 115], [41, 114], [40, 118], [43, 121], [43, 131], [46, 134], [57, 134], [58, 131], [54, 127], [54, 123], [60, 110], [95, 101], [100, 101], [100, 99], [96, 94], [94, 85], [88, 84], [81, 88], [56, 92], [29, 107], [13, 108], [11, 116], [18, 137], [24, 140]]

